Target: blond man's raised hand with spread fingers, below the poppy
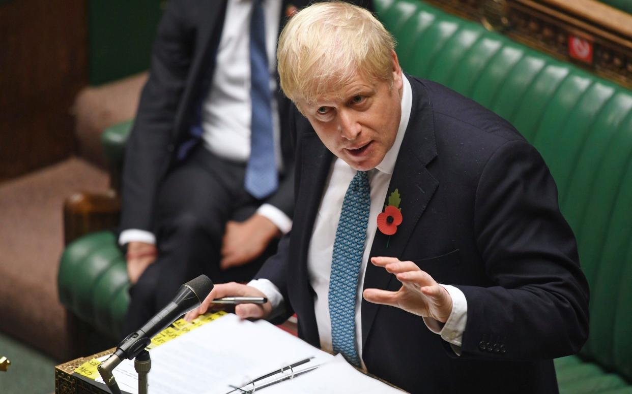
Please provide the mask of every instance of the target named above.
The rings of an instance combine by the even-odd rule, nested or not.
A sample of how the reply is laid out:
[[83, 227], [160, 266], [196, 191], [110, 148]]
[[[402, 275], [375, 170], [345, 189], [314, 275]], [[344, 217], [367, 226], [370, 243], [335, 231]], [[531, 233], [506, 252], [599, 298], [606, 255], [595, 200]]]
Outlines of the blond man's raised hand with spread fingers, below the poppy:
[[398, 291], [366, 289], [364, 299], [376, 304], [396, 306], [442, 323], [447, 321], [452, 312], [452, 297], [415, 263], [401, 262], [394, 257], [374, 257], [371, 262], [395, 274], [402, 286]]

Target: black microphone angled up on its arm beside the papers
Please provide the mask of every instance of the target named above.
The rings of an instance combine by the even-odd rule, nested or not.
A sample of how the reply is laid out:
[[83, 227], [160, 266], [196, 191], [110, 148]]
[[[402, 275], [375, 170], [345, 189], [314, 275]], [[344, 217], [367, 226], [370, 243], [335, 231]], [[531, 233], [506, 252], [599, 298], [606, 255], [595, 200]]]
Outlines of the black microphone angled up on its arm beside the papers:
[[124, 359], [131, 360], [136, 357], [138, 353], [150, 344], [154, 335], [164, 330], [179, 316], [197, 308], [212, 289], [213, 282], [210, 281], [207, 275], [200, 275], [195, 279], [191, 279], [191, 281], [180, 286], [173, 301], [156, 313], [143, 327], [128, 335], [118, 344], [114, 354], [97, 367], [112, 393], [120, 393], [118, 385], [114, 381], [114, 376], [112, 376], [112, 370]]

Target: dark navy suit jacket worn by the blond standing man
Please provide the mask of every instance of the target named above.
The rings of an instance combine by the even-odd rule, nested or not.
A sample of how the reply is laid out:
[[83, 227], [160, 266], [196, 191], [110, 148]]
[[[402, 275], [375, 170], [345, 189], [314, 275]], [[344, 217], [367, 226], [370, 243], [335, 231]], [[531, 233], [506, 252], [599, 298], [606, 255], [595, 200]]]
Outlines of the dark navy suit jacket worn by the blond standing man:
[[[412, 393], [556, 392], [550, 359], [585, 342], [588, 286], [549, 170], [506, 121], [439, 84], [409, 80], [411, 117], [388, 188], [399, 189], [403, 222], [388, 246], [377, 232], [370, 256], [412, 260], [458, 287], [468, 320], [457, 357], [421, 317], [363, 300], [368, 371]], [[300, 336], [318, 346], [306, 260], [334, 156], [306, 119], [296, 127], [294, 231], [257, 277], [279, 287]], [[368, 264], [364, 289], [400, 286]]]

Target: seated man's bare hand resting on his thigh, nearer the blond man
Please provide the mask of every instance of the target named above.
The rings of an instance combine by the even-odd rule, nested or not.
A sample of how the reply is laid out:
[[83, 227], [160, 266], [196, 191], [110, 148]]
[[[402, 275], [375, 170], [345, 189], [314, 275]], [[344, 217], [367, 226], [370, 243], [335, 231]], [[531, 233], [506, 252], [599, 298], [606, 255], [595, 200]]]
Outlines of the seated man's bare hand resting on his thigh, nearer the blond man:
[[229, 221], [222, 240], [221, 269], [228, 269], [251, 262], [264, 253], [272, 239], [281, 232], [265, 216], [254, 214], [246, 221]]

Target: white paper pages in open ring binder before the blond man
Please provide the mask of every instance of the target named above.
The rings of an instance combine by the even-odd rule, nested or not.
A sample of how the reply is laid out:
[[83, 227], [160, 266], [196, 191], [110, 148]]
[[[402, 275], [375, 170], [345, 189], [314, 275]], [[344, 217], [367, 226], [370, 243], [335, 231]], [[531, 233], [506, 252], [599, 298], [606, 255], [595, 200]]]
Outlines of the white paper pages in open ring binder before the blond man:
[[[268, 322], [249, 322], [233, 314], [152, 349], [150, 356], [150, 394], [226, 394], [236, 387], [252, 390], [250, 381], [305, 359], [310, 361], [257, 381], [255, 387], [283, 377], [287, 380], [255, 391], [401, 393], [356, 371], [342, 357], [334, 358]], [[315, 366], [318, 368], [300, 373]], [[295, 376], [289, 379], [292, 374]], [[121, 362], [114, 369], [114, 378], [121, 390], [138, 393], [138, 374], [133, 361]], [[97, 381], [102, 383], [100, 378]]]

